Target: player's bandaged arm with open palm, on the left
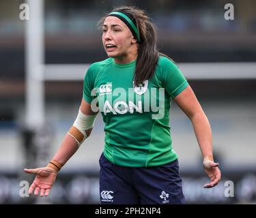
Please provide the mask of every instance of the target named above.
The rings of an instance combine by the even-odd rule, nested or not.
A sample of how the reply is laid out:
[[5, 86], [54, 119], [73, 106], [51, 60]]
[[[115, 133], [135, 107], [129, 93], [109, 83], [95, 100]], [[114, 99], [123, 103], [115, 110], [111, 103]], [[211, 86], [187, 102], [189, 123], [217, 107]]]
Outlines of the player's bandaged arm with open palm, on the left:
[[94, 126], [97, 113], [91, 110], [91, 104], [82, 99], [79, 114], [74, 124], [66, 134], [53, 159], [44, 168], [25, 169], [25, 172], [35, 174], [35, 180], [29, 187], [29, 194], [48, 196], [55, 183], [57, 172], [76, 153], [83, 141], [89, 137]]

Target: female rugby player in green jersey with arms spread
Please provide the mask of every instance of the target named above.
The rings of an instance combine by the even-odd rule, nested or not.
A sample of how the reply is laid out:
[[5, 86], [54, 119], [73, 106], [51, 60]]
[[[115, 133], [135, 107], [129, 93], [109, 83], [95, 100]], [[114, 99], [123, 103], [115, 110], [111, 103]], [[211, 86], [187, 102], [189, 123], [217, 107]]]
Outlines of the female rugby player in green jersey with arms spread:
[[117, 7], [102, 18], [108, 59], [90, 65], [74, 124], [59, 150], [29, 188], [48, 196], [57, 172], [91, 134], [98, 111], [105, 123], [100, 157], [102, 204], [184, 204], [182, 178], [169, 126], [171, 99], [193, 123], [202, 163], [214, 187], [221, 179], [212, 156], [212, 132], [180, 69], [156, 50], [156, 29], [135, 7]]

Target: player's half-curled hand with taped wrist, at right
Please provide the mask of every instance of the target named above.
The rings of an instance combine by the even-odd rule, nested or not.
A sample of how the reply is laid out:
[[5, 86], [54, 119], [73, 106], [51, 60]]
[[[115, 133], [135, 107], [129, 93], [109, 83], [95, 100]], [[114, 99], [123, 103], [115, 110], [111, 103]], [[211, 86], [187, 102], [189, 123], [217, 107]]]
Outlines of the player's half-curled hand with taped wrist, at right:
[[215, 185], [218, 185], [218, 182], [221, 181], [221, 170], [218, 169], [218, 163], [208, 160], [203, 163], [203, 167], [211, 180], [210, 183], [203, 185], [203, 187], [212, 188]]

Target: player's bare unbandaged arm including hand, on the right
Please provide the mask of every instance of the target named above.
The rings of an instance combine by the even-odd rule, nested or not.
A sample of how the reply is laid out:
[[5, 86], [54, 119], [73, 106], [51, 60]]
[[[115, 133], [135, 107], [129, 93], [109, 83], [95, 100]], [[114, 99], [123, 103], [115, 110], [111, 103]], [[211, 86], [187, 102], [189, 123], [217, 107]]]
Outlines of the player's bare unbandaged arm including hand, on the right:
[[212, 155], [212, 130], [208, 118], [190, 86], [186, 87], [173, 100], [193, 124], [195, 136], [203, 155], [203, 166], [211, 180], [210, 183], [205, 184], [203, 187], [214, 187], [221, 180], [221, 171], [218, 169], [218, 163], [214, 162]]

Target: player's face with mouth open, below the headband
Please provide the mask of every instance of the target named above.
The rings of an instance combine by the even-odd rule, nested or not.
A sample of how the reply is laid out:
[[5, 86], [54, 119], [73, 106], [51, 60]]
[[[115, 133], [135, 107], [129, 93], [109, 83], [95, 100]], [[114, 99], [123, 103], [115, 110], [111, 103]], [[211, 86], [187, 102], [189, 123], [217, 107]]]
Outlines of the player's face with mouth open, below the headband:
[[102, 27], [102, 42], [106, 54], [115, 59], [124, 59], [134, 52], [132, 32], [126, 24], [115, 16], [108, 16]]

